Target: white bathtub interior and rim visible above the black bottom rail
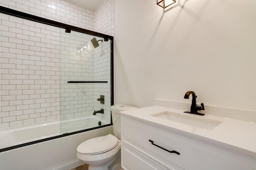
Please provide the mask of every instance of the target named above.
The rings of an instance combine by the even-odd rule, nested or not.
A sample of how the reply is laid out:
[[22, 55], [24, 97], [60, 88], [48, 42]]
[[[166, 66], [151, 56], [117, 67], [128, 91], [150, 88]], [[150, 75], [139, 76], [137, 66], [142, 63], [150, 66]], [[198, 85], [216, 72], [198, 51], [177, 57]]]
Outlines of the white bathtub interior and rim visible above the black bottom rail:
[[110, 122], [100, 117], [88, 116], [76, 119], [65, 119], [61, 121], [61, 124], [60, 121], [49, 121], [47, 123], [35, 123], [0, 129], [0, 149], [58, 136], [63, 133], [98, 127], [99, 121], [101, 121], [101, 125], [110, 124]]

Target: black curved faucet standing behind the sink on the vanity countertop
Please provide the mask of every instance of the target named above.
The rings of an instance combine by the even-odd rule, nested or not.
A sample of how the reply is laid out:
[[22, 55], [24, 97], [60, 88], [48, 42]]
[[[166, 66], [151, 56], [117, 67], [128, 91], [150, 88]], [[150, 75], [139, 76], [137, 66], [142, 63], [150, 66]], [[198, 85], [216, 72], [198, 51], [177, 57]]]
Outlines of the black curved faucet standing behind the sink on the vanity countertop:
[[201, 103], [201, 106], [197, 106], [196, 105], [196, 93], [194, 93], [194, 91], [188, 91], [185, 96], [184, 99], [188, 99], [190, 94], [192, 94], [192, 104], [190, 107], [190, 111], [186, 111], [184, 113], [191, 113], [191, 114], [195, 114], [195, 115], [201, 115], [204, 116], [203, 113], [198, 113], [197, 111], [201, 111], [204, 110], [204, 103]]

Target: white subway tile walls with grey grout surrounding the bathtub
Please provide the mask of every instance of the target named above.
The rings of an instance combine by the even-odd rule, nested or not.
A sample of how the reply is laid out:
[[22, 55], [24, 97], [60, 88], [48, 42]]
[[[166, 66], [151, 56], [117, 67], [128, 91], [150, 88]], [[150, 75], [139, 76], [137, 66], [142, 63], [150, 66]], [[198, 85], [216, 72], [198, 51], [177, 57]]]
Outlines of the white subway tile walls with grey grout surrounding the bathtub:
[[[113, 35], [113, 3], [105, 0], [93, 12], [64, 0], [0, 0], [1, 6], [88, 30], [96, 25], [94, 13], [109, 15], [95, 30], [108, 35]], [[101, 13], [106, 8], [111, 14]], [[110, 119], [110, 83], [66, 83], [110, 79], [110, 42], [76, 56], [77, 45], [92, 38], [79, 34], [0, 14], [0, 128], [79, 117], [100, 108]], [[105, 105], [96, 101], [100, 95]]]

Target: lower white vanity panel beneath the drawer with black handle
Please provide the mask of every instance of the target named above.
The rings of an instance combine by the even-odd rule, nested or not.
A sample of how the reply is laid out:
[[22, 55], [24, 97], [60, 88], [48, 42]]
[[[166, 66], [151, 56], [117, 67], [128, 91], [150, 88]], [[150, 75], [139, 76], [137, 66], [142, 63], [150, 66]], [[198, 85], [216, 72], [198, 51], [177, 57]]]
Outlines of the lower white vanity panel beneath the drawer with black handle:
[[121, 153], [122, 168], [125, 170], [168, 170], [123, 142]]

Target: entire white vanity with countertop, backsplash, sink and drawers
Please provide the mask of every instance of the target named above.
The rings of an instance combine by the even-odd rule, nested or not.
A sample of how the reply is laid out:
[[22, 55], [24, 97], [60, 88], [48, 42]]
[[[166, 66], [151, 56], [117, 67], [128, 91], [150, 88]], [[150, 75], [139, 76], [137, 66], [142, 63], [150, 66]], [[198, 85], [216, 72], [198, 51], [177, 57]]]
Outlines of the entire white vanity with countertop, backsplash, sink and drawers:
[[[121, 112], [125, 170], [256, 170], [256, 112], [155, 100]], [[242, 112], [242, 113], [241, 113]], [[242, 117], [240, 117], [242, 116]]]

